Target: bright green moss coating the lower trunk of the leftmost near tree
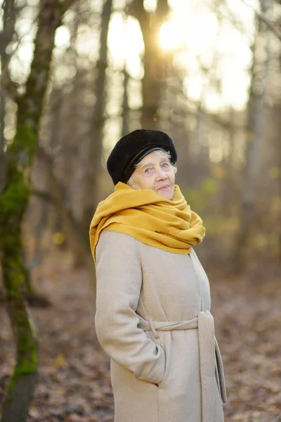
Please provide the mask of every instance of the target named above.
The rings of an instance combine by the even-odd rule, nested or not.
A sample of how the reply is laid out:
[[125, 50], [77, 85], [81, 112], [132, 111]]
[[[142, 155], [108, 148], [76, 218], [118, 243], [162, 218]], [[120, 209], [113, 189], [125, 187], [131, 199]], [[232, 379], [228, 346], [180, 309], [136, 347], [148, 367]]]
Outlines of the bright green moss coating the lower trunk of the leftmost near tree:
[[[26, 132], [22, 132], [26, 133]], [[32, 145], [22, 143], [31, 151]], [[36, 373], [38, 366], [37, 333], [27, 313], [24, 293], [26, 269], [22, 260], [21, 223], [30, 196], [24, 174], [18, 170], [14, 158], [15, 143], [9, 148], [6, 166], [6, 186], [0, 196], [0, 249], [4, 287], [11, 325], [16, 339], [17, 362], [8, 385], [8, 397], [12, 399], [15, 383], [23, 376]]]

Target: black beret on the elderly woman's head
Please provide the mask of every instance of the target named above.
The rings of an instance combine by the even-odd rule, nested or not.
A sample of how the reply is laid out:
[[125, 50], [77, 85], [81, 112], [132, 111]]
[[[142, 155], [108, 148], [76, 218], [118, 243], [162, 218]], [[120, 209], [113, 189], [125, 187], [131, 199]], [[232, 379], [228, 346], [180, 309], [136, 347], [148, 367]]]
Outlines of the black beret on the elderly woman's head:
[[135, 165], [145, 155], [162, 149], [171, 154], [171, 162], [177, 159], [176, 148], [169, 135], [159, 130], [137, 129], [123, 136], [112, 149], [107, 159], [107, 171], [113, 183], [126, 183], [135, 170]]

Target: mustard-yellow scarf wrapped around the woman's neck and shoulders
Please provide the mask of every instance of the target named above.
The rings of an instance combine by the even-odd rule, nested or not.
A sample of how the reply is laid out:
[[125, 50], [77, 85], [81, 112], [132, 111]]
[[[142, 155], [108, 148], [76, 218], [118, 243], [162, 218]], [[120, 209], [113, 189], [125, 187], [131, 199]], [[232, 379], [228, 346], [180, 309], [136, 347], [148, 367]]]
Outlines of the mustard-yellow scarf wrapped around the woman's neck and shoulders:
[[135, 190], [119, 181], [115, 192], [98, 204], [90, 226], [90, 243], [96, 262], [96, 245], [105, 229], [129, 234], [155, 248], [179, 254], [202, 241], [202, 219], [190, 210], [180, 188], [167, 200], [151, 189]]

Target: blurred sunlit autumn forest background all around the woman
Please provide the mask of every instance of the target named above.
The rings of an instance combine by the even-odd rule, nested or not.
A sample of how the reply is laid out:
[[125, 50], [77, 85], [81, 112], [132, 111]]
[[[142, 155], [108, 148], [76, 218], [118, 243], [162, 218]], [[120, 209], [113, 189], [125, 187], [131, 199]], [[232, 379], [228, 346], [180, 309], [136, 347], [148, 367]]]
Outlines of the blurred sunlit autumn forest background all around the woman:
[[280, 2], [4, 0], [0, 19], [1, 422], [113, 421], [89, 224], [138, 128], [174, 139], [207, 228], [226, 421], [281, 421]]

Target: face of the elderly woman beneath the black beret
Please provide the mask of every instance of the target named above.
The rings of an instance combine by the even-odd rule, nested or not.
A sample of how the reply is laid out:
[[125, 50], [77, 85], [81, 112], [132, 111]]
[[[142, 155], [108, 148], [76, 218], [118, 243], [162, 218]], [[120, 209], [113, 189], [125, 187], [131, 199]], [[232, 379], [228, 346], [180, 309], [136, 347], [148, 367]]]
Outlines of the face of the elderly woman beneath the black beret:
[[162, 151], [152, 151], [145, 155], [130, 181], [134, 189], [152, 189], [169, 200], [174, 196], [175, 171]]

